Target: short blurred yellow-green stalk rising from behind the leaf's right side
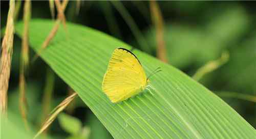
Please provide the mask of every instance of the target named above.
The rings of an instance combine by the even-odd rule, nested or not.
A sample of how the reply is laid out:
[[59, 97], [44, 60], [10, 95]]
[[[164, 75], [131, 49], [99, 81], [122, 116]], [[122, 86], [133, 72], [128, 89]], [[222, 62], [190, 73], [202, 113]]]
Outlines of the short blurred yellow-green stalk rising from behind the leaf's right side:
[[209, 61], [206, 63], [203, 67], [199, 68], [197, 72], [193, 75], [193, 78], [195, 80], [200, 80], [205, 74], [212, 72], [225, 64], [229, 59], [229, 53], [228, 51], [224, 51], [221, 54], [221, 58], [215, 61]]

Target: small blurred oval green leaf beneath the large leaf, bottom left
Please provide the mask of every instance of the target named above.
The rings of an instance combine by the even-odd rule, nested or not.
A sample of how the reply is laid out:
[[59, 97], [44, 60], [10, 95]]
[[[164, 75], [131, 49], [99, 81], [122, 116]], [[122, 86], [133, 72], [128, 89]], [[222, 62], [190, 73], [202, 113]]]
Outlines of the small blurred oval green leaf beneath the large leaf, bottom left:
[[58, 120], [62, 129], [70, 134], [77, 135], [81, 131], [82, 123], [75, 117], [61, 113], [58, 116]]

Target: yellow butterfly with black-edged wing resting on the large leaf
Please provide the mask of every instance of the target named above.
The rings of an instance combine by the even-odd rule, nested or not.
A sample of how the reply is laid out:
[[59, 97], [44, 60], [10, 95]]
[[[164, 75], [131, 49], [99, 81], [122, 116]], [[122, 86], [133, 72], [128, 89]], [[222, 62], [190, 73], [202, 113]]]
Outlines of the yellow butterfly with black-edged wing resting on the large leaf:
[[111, 102], [117, 103], [139, 94], [149, 81], [138, 58], [130, 50], [116, 48], [101, 88]]

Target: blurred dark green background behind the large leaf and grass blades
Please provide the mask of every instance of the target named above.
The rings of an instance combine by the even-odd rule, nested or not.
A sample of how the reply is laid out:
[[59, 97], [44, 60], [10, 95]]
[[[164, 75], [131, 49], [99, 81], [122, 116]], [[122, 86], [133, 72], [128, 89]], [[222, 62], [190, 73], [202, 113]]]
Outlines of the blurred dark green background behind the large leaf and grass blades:
[[[127, 1], [121, 4], [119, 9], [122, 12], [125, 10], [129, 12], [138, 26], [137, 32], [141, 32], [142, 37], [136, 38], [133, 35], [120, 10], [116, 9], [118, 6], [115, 7], [111, 2], [82, 1], [77, 14], [76, 2], [71, 1], [65, 15], [69, 22], [92, 27], [156, 56], [156, 34], [149, 3]], [[238, 96], [222, 98], [256, 128], [256, 2], [158, 2], [158, 4], [164, 18], [164, 40], [169, 64], [193, 76], [200, 67], [220, 58], [221, 53], [227, 50], [230, 55], [229, 61], [203, 76], [199, 82], [216, 93], [234, 92], [250, 95], [250, 99], [254, 99], [254, 102], [239, 99]], [[6, 24], [8, 8], [8, 1], [1, 1], [1, 31]], [[22, 17], [23, 5], [17, 20], [22, 20]], [[33, 18], [51, 18], [48, 1], [32, 2]], [[20, 38], [15, 36], [8, 92], [9, 111], [17, 116], [20, 115], [18, 109], [20, 44]], [[31, 58], [34, 54], [30, 49]], [[39, 128], [43, 118], [38, 114], [44, 115], [42, 114], [44, 92], [53, 90], [49, 103], [51, 110], [68, 96], [69, 87], [40, 59], [29, 66], [26, 79], [28, 119], [34, 127]], [[73, 131], [65, 127], [65, 122], [61, 122], [61, 119], [72, 121], [71, 118], [75, 119], [74, 126], [78, 126], [77, 128], [83, 131], [83, 138], [84, 136], [112, 138], [79, 98], [72, 105], [65, 110], [72, 117], [58, 117], [48, 130], [51, 136], [74, 137]]]

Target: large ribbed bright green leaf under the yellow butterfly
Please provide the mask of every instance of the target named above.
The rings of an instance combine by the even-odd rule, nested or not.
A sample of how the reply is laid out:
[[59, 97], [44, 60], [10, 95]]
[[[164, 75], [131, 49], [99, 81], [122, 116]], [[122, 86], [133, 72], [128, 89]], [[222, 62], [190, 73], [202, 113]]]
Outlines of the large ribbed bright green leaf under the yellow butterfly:
[[[38, 50], [53, 22], [30, 22], [30, 44]], [[16, 31], [22, 35], [22, 22]], [[129, 100], [111, 103], [101, 82], [111, 53], [131, 46], [89, 27], [67, 23], [41, 58], [72, 87], [114, 138], [253, 138], [255, 131], [237, 112], [195, 80], [150, 55], [134, 50], [151, 78], [145, 90]], [[153, 89], [154, 88], [154, 89]]]

